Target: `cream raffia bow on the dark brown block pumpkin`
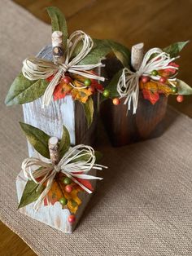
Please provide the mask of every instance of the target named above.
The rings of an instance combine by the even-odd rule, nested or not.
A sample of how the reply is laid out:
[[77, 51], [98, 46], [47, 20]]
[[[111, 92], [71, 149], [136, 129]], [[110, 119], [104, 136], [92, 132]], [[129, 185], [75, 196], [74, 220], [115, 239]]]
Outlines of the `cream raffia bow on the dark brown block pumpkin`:
[[[155, 55], [153, 57], [153, 55]], [[120, 95], [120, 98], [126, 97], [124, 104], [128, 104], [128, 111], [131, 109], [131, 103], [133, 104], [133, 114], [137, 111], [138, 95], [139, 95], [139, 78], [141, 76], [151, 77], [155, 81], [159, 81], [159, 76], [152, 76], [151, 72], [153, 70], [162, 70], [166, 68], [177, 67], [170, 66], [169, 64], [177, 59], [170, 58], [170, 55], [159, 48], [153, 48], [146, 52], [142, 60], [141, 67], [133, 72], [129, 68], [124, 68], [123, 72], [117, 83], [117, 91]], [[168, 82], [172, 84], [172, 81], [175, 81], [176, 78], [169, 78]], [[174, 84], [172, 84], [174, 86]]]

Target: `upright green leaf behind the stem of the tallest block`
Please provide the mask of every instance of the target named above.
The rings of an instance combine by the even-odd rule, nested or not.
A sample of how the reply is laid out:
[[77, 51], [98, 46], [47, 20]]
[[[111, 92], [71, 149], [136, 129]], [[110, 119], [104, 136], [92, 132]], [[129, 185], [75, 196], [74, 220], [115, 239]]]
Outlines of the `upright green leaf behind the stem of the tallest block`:
[[48, 12], [51, 19], [52, 32], [63, 32], [63, 47], [65, 49], [68, 40], [68, 26], [65, 20], [65, 16], [58, 7], [47, 7], [46, 11]]

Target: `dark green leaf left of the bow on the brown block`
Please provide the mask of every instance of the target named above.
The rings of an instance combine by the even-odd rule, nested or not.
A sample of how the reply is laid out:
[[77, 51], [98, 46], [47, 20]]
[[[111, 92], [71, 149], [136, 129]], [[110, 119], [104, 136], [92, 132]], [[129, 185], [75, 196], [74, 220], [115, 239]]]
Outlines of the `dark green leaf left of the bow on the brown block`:
[[[118, 91], [116, 90], [116, 86], [117, 83], [120, 79], [120, 76], [122, 74], [123, 68], [120, 69], [114, 77], [112, 77], [111, 82], [109, 82], [108, 86], [106, 86], [105, 90], [109, 90], [110, 91], [110, 98], [116, 98], [116, 97], [120, 97]], [[103, 95], [101, 96], [101, 102], [103, 102], [103, 100], [105, 100], [107, 98], [105, 98]]]

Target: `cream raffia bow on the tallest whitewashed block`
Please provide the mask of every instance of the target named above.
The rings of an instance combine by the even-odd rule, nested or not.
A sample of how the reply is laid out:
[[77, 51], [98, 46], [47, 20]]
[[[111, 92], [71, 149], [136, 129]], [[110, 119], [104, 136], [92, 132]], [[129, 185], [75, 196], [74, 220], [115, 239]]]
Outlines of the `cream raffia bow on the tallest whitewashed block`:
[[[82, 43], [81, 51], [73, 57], [76, 47]], [[50, 104], [51, 97], [54, 93], [55, 86], [59, 84], [60, 79], [64, 76], [66, 72], [74, 73], [81, 75], [82, 77], [87, 77], [90, 79], [96, 79], [104, 81], [104, 77], [97, 76], [93, 73], [90, 73], [89, 70], [94, 68], [103, 67], [103, 64], [100, 62], [98, 64], [85, 64], [78, 65], [81, 60], [89, 54], [89, 51], [94, 46], [93, 40], [81, 30], [77, 30], [71, 34], [68, 38], [66, 51], [64, 53], [64, 63], [55, 64], [49, 60], [43, 60], [40, 58], [30, 57], [23, 62], [22, 73], [24, 77], [28, 80], [37, 80], [37, 79], [46, 79], [55, 74], [55, 77], [52, 79], [50, 84], [47, 86], [46, 91], [42, 98], [42, 107]], [[83, 89], [85, 86], [76, 87], [76, 89]]]

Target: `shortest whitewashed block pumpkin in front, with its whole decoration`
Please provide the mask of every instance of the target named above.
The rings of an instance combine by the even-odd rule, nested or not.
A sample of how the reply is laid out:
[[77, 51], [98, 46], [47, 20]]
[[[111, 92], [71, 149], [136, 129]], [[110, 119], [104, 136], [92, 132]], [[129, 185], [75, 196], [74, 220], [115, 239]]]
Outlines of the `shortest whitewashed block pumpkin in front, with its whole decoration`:
[[24, 159], [16, 178], [20, 213], [65, 233], [72, 233], [94, 192], [100, 154], [88, 145], [70, 147], [63, 126], [62, 139], [20, 123], [36, 152]]

